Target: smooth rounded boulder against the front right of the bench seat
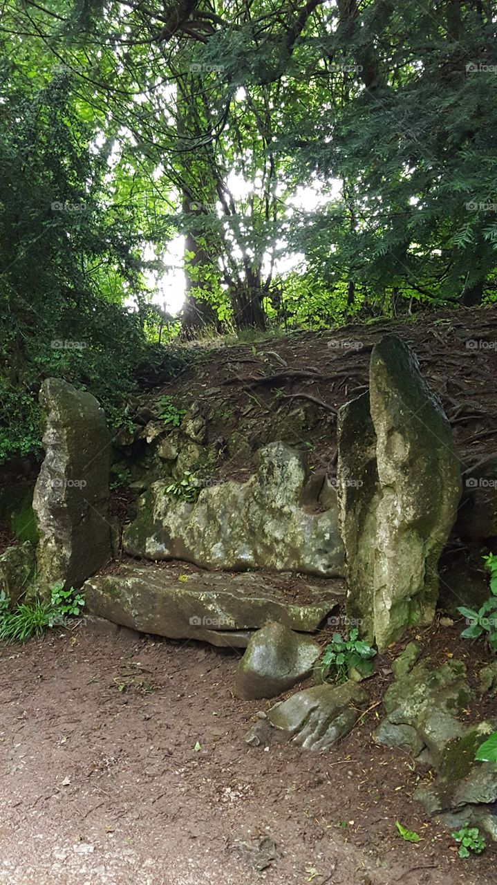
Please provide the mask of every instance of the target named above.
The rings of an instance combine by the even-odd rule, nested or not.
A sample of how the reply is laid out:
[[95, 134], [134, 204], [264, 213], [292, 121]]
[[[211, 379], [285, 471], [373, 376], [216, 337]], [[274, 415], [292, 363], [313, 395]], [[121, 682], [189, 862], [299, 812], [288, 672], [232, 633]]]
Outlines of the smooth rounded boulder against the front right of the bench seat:
[[238, 697], [275, 697], [310, 673], [321, 649], [310, 636], [273, 621], [250, 638], [234, 682]]

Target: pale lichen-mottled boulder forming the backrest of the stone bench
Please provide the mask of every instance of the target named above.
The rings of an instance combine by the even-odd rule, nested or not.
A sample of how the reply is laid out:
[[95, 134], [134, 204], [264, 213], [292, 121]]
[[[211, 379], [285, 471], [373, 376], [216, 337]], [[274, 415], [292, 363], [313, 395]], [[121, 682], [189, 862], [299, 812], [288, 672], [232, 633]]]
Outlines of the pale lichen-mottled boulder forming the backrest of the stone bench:
[[209, 569], [343, 574], [338, 506], [325, 512], [306, 507], [309, 473], [302, 453], [271, 443], [258, 460], [247, 482], [203, 489], [195, 504], [168, 494], [169, 483], [155, 482], [126, 528], [126, 552]]

